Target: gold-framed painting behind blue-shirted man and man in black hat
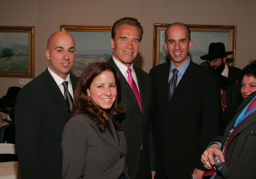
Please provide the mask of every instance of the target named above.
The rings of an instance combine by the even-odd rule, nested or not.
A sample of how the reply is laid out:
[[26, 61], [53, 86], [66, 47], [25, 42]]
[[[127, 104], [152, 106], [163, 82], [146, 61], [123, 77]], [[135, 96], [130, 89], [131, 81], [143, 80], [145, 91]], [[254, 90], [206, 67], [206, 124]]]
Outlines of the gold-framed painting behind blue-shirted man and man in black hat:
[[[162, 64], [171, 57], [164, 47], [165, 29], [169, 24], [154, 24], [154, 50], [153, 67]], [[192, 47], [189, 56], [195, 64], [207, 66], [206, 60], [201, 60], [202, 55], [208, 54], [209, 44], [222, 42], [226, 51], [234, 53], [227, 58], [231, 66], [235, 64], [237, 26], [211, 26], [211, 25], [187, 25], [191, 30]]]

